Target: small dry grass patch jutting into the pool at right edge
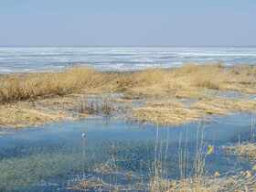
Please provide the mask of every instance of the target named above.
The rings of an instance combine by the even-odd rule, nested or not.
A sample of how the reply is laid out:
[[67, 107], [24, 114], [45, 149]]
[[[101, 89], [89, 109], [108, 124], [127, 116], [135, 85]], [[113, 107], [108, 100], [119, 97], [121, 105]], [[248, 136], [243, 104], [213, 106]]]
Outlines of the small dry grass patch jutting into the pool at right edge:
[[228, 154], [240, 155], [249, 158], [249, 160], [252, 162], [256, 162], [256, 144], [245, 143], [234, 146], [226, 146], [225, 150]]

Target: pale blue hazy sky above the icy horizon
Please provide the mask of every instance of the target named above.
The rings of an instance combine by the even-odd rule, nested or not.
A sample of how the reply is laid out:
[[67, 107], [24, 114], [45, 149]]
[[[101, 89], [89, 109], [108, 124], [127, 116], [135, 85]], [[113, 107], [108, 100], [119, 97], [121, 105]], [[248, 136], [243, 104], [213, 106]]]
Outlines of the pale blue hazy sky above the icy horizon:
[[255, 0], [0, 0], [0, 46], [255, 45]]

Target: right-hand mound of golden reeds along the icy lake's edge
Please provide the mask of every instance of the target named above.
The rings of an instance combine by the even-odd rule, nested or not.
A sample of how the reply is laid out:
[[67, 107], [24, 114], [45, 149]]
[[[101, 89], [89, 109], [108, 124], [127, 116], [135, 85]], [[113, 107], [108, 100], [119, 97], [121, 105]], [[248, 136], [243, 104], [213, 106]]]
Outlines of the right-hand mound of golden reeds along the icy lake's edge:
[[[188, 64], [177, 69], [146, 69], [123, 74], [118, 90], [130, 98], [206, 98], [212, 91], [256, 93], [255, 67]], [[240, 72], [238, 73], [237, 70]]]

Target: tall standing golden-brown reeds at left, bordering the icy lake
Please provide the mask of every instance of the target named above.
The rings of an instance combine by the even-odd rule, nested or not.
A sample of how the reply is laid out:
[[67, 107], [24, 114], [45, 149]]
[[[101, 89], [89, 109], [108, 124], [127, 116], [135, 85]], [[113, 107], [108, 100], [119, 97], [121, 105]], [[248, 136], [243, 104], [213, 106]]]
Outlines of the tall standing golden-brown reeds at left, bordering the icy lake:
[[104, 85], [104, 75], [93, 69], [73, 68], [62, 72], [12, 74], [0, 79], [0, 102], [63, 96], [82, 88]]

